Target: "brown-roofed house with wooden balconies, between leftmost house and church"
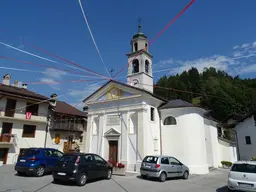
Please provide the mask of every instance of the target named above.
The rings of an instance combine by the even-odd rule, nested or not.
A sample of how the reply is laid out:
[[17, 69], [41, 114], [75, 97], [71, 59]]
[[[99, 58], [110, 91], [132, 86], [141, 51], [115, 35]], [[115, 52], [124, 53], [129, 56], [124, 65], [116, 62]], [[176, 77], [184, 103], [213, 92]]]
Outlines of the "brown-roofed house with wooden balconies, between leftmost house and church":
[[51, 95], [47, 147], [63, 152], [84, 151], [87, 114]]

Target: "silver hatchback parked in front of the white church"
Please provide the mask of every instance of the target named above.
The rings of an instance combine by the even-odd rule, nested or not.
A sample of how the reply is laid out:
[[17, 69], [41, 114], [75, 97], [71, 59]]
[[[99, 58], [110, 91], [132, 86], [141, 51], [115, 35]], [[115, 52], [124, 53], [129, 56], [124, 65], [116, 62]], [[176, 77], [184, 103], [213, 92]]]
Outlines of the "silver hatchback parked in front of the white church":
[[183, 177], [188, 179], [189, 168], [171, 156], [146, 156], [140, 168], [142, 178], [155, 177], [164, 182], [167, 178]]

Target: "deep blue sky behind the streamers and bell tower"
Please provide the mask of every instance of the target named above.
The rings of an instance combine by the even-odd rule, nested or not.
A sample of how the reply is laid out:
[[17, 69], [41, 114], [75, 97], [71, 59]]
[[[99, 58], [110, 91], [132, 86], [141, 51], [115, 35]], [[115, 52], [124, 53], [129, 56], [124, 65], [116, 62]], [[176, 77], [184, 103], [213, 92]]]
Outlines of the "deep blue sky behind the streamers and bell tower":
[[[142, 31], [153, 39], [188, 3], [189, 0], [158, 1], [89, 1], [82, 0], [92, 33], [108, 69], [119, 71], [127, 64], [126, 53], [142, 19]], [[256, 1], [196, 0], [149, 48], [154, 56], [154, 80], [197, 67], [223, 69], [232, 75], [255, 78]], [[76, 0], [16, 1], [2, 0], [0, 42], [18, 47], [59, 63], [42, 60], [0, 44], [0, 56], [37, 64], [74, 70], [67, 63], [42, 53], [24, 42], [74, 61], [107, 75], [94, 47]], [[11, 74], [12, 81], [70, 81], [88, 79], [70, 76], [46, 68], [0, 59], [1, 74]], [[3, 67], [31, 70], [21, 72]], [[82, 72], [81, 70], [75, 70]], [[42, 73], [45, 72], [45, 73]], [[127, 69], [119, 76], [125, 76]], [[90, 78], [91, 79], [91, 78]], [[125, 81], [125, 77], [119, 80]], [[65, 83], [58, 85], [29, 84], [30, 90], [49, 96], [64, 94], [60, 100], [77, 104], [104, 81]]]

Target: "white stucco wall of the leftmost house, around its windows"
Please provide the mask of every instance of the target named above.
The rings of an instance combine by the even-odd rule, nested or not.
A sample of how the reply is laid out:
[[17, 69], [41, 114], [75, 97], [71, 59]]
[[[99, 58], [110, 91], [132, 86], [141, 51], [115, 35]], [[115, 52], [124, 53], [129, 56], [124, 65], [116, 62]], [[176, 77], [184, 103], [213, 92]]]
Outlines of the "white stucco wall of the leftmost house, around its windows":
[[[17, 100], [14, 117], [4, 116], [4, 110], [7, 100], [5, 97], [0, 100], [0, 109], [3, 109], [3, 111], [0, 112], [0, 133], [2, 132], [3, 122], [6, 122], [13, 123], [12, 134], [15, 135], [15, 137], [13, 138], [13, 144], [11, 146], [6, 146], [0, 143], [1, 148], [9, 148], [6, 162], [7, 164], [13, 164], [16, 162], [17, 156], [21, 148], [44, 147], [45, 143], [48, 104], [39, 104], [38, 116], [32, 115], [30, 120], [26, 120], [26, 100], [17, 98], [14, 99]], [[24, 124], [36, 125], [36, 132], [34, 138], [22, 137]]]

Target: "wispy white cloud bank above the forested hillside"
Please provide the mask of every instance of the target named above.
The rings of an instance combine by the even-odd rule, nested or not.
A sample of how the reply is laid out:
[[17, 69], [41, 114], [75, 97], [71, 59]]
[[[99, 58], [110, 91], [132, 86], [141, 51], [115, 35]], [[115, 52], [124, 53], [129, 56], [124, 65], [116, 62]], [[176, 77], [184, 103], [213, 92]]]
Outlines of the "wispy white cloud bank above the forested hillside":
[[[196, 67], [200, 72], [204, 68], [214, 67], [218, 70], [224, 70], [231, 75], [248, 74], [256, 72], [256, 41], [252, 43], [243, 43], [232, 48], [229, 55], [212, 55], [208, 57], [200, 57], [193, 60], [160, 60], [153, 72], [169, 71], [169, 74], [182, 73], [184, 70], [189, 70], [191, 67]], [[163, 69], [163, 66], [169, 66], [168, 69]], [[171, 67], [171, 68], [170, 68]]]

